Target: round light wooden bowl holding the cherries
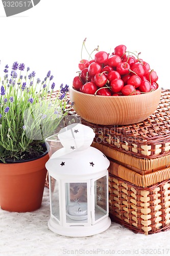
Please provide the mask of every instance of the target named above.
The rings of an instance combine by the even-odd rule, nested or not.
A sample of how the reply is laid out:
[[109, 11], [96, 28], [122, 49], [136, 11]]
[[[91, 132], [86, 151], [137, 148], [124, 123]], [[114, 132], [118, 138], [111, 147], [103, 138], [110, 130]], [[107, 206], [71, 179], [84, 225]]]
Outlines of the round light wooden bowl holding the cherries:
[[102, 125], [126, 125], [142, 122], [158, 107], [161, 87], [149, 93], [131, 96], [99, 96], [69, 88], [73, 108], [84, 120]]

